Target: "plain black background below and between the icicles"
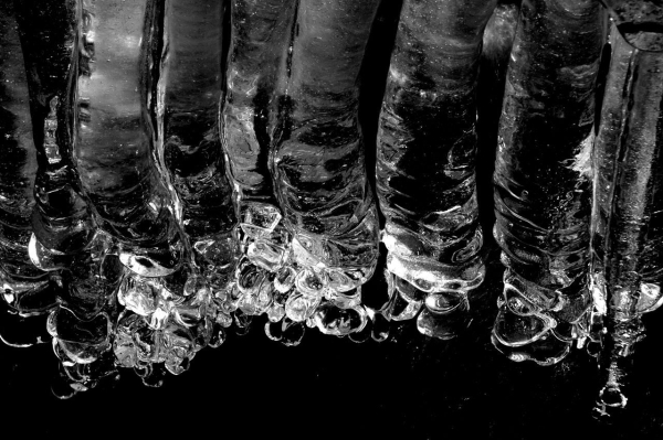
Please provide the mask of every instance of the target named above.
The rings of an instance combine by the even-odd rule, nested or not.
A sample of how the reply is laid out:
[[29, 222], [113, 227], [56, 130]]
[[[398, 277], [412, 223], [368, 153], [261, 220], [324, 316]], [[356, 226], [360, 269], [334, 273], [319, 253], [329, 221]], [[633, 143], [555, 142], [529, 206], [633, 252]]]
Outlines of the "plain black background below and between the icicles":
[[[358, 0], [359, 1], [359, 0]], [[361, 119], [368, 167], [375, 165], [377, 115], [398, 1], [385, 1], [362, 68]], [[487, 278], [473, 296], [473, 323], [452, 341], [419, 334], [414, 322], [391, 329], [381, 344], [356, 344], [308, 330], [286, 347], [250, 333], [206, 348], [181, 376], [145, 387], [130, 371], [119, 380], [59, 400], [51, 393], [57, 362], [51, 344], [12, 348], [0, 344], [0, 417], [17, 432], [214, 438], [663, 438], [663, 385], [659, 379], [661, 312], [645, 316], [623, 415], [598, 422], [592, 407], [600, 387], [597, 366], [583, 350], [540, 367], [506, 359], [490, 342], [502, 291], [490, 175], [499, 115], [501, 68], [482, 64], [478, 182], [485, 228]], [[368, 292], [370, 293], [370, 292]]]

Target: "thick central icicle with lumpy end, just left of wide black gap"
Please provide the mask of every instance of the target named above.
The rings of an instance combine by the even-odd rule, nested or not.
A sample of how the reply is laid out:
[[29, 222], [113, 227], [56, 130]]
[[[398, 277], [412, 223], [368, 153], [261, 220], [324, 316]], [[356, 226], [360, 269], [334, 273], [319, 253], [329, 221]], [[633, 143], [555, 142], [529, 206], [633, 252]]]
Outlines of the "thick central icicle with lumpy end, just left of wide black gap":
[[[357, 84], [378, 3], [299, 2], [270, 152], [275, 193], [293, 236], [286, 267], [296, 275], [285, 315], [313, 320], [323, 333], [336, 335], [365, 328], [360, 289], [378, 257]], [[325, 301], [341, 310], [332, 312]]]

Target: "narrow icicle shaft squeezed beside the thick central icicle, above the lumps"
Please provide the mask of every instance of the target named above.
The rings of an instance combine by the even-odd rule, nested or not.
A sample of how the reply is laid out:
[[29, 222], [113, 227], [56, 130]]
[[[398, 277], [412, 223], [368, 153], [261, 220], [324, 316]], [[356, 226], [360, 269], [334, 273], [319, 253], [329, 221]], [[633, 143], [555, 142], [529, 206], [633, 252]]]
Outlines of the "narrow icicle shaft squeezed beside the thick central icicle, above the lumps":
[[267, 160], [296, 0], [233, 0], [222, 108], [228, 170], [240, 201], [274, 203]]

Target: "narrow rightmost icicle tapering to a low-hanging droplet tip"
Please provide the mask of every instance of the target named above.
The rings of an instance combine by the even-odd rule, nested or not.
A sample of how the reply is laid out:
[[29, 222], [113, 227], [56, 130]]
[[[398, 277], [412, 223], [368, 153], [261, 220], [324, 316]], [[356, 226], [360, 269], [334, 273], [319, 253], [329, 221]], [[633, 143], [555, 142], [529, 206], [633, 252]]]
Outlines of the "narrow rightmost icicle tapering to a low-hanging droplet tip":
[[663, 52], [633, 47], [618, 29], [592, 158], [590, 282], [593, 318], [607, 330], [593, 335], [602, 345], [600, 415], [627, 404], [641, 316], [663, 302]]

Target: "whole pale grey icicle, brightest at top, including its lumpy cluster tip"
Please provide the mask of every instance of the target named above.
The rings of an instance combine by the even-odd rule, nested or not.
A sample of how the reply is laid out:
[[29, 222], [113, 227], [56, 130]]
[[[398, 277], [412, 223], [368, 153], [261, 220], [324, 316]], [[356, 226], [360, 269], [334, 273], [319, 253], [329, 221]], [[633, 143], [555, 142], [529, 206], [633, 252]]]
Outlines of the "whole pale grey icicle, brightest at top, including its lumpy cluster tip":
[[179, 374], [210, 340], [210, 294], [189, 264], [181, 210], [165, 175], [164, 14], [159, 0], [84, 0], [76, 163], [128, 269], [117, 292], [127, 309], [116, 320], [118, 364], [154, 373], [160, 367], [151, 364], [164, 363]]

